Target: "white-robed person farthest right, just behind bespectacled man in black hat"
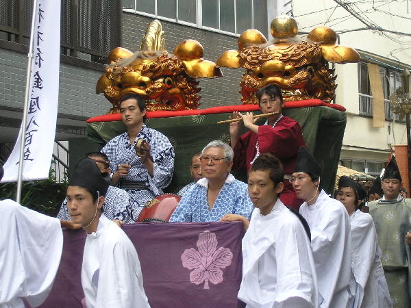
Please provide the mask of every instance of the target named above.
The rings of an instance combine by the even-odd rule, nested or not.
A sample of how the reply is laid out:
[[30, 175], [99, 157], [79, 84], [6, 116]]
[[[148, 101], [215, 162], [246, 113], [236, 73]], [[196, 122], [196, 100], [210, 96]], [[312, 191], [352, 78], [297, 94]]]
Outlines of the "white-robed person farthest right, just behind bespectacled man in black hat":
[[381, 263], [373, 218], [359, 207], [366, 192], [349, 177], [340, 177], [336, 199], [343, 203], [351, 225], [351, 259], [356, 281], [354, 308], [390, 308], [390, 292]]

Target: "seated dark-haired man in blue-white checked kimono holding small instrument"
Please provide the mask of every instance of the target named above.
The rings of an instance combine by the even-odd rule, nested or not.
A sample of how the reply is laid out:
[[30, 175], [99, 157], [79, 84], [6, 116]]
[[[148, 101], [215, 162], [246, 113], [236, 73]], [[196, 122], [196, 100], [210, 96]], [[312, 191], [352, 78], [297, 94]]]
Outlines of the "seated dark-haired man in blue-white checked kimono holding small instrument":
[[110, 160], [112, 185], [125, 190], [133, 202], [135, 221], [145, 203], [163, 194], [170, 184], [174, 149], [166, 136], [144, 125], [146, 107], [138, 95], [126, 94], [120, 101], [120, 113], [127, 132], [110, 140], [101, 152]]

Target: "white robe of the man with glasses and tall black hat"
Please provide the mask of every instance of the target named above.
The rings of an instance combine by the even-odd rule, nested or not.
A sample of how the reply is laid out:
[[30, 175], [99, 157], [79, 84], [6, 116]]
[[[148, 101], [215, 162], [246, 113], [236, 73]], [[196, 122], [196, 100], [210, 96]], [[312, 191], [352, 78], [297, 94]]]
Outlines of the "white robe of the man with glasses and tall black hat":
[[299, 212], [310, 226], [321, 308], [351, 307], [355, 285], [351, 281], [351, 235], [347, 210], [343, 203], [329, 198], [321, 190], [316, 203], [307, 205], [304, 202]]

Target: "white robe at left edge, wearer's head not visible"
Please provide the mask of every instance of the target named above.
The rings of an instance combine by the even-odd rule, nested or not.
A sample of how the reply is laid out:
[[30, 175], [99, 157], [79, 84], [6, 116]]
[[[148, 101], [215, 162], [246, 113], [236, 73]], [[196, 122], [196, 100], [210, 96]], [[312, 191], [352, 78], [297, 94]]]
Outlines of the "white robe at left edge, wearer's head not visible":
[[60, 220], [0, 201], [0, 307], [40, 306], [51, 290], [60, 264]]

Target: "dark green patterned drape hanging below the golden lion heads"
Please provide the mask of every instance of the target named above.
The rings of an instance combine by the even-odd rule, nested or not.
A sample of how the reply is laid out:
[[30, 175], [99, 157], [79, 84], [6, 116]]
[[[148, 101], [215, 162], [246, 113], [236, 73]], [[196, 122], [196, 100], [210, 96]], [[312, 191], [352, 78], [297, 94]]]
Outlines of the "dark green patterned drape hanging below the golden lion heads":
[[[333, 193], [347, 120], [345, 112], [319, 106], [289, 108], [283, 110], [283, 114], [300, 123], [308, 149], [323, 168], [321, 185], [325, 191]], [[146, 125], [164, 133], [175, 149], [173, 181], [167, 188], [167, 192], [177, 192], [179, 188], [191, 181], [188, 167], [194, 153], [201, 151], [212, 140], [219, 139], [229, 142], [229, 124], [215, 124], [219, 120], [227, 120], [229, 115], [208, 114], [146, 120]], [[262, 123], [264, 122], [262, 121]], [[121, 121], [88, 123], [88, 140], [103, 147], [114, 136], [125, 130], [125, 125]], [[246, 131], [244, 128], [243, 130]], [[245, 170], [233, 173], [238, 179], [246, 181]]]

